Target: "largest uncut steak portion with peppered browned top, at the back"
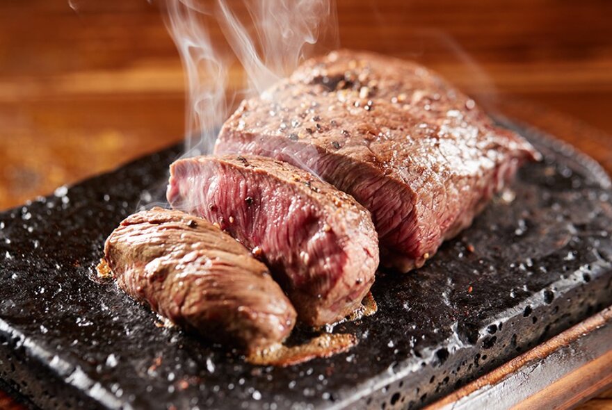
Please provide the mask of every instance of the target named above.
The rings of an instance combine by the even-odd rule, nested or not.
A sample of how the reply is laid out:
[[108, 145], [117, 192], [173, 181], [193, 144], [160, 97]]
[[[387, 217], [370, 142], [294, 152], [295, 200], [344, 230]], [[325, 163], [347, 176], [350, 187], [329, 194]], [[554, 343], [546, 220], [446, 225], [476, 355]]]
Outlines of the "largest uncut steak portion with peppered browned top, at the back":
[[538, 156], [425, 67], [353, 51], [308, 60], [243, 101], [215, 152], [287, 161], [348, 192], [372, 214], [381, 263], [403, 271]]

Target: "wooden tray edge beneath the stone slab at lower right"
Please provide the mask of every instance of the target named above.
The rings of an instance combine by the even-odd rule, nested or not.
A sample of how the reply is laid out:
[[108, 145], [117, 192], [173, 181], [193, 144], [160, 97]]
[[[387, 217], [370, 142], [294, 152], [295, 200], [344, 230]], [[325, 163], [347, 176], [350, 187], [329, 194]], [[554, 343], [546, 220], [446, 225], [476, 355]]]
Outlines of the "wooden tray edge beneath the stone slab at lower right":
[[[601, 346], [602, 341], [609, 341], [611, 331], [612, 306], [504, 363], [426, 407], [426, 410], [470, 409], [491, 400], [500, 400], [499, 407], [513, 410], [575, 407], [612, 385], [612, 372], [609, 370], [612, 350], [609, 346]], [[589, 342], [590, 335], [597, 332], [599, 336]], [[582, 353], [586, 357], [577, 363], [572, 362], [573, 357]], [[573, 357], [569, 358], [567, 354]], [[538, 368], [547, 369], [545, 374], [549, 379], [545, 379], [547, 384], [540, 384], [543, 388], [533, 389], [533, 394], [528, 396], [522, 386], [526, 386], [525, 382], [529, 382], [526, 377], [533, 377]]]

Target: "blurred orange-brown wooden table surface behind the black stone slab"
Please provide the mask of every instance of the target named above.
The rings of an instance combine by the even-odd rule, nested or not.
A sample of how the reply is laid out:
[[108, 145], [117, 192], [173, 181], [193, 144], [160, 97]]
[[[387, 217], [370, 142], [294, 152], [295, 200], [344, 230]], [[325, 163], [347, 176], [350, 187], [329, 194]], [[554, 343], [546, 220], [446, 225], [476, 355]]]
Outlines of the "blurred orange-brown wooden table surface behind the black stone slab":
[[[183, 71], [157, 3], [0, 2], [0, 210], [181, 140]], [[338, 0], [337, 9], [343, 47], [417, 58], [612, 172], [612, 1]], [[558, 116], [574, 120], [556, 126]], [[610, 409], [611, 396], [583, 407]], [[0, 391], [0, 408], [11, 407]]]

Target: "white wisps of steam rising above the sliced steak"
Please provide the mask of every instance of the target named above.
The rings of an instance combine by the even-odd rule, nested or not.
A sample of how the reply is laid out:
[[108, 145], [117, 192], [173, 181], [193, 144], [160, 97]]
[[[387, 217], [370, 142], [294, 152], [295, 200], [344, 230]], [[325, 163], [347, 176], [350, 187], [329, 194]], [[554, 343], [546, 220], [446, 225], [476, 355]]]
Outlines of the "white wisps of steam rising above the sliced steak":
[[241, 94], [261, 94], [296, 69], [321, 38], [334, 48], [338, 42], [333, 0], [166, 0], [166, 6], [166, 25], [186, 71], [190, 155], [212, 151], [229, 115], [235, 58], [248, 78]]

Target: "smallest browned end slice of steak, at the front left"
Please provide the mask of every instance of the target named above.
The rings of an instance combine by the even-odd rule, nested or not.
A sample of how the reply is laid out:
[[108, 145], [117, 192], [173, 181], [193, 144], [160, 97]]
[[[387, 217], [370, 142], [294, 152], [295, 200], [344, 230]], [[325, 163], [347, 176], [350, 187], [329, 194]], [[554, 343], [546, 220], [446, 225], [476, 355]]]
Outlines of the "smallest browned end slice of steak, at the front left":
[[210, 341], [252, 352], [295, 325], [268, 268], [202, 218], [162, 208], [130, 215], [106, 240], [104, 259], [125, 293]]

